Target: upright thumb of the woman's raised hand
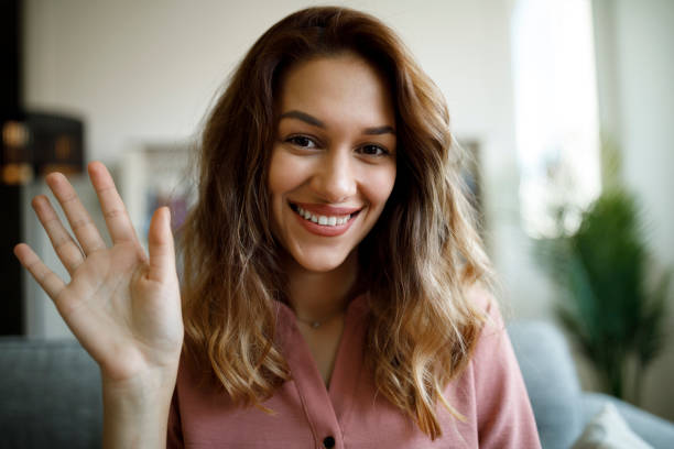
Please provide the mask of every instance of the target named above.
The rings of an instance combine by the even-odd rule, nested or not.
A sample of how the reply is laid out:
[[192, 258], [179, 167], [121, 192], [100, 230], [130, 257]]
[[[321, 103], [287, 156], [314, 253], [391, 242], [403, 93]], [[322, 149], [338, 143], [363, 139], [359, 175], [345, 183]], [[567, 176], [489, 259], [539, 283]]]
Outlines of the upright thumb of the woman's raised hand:
[[148, 250], [150, 251], [150, 280], [162, 282], [175, 273], [175, 251], [173, 233], [171, 232], [171, 211], [160, 207], [152, 215], [148, 232]]

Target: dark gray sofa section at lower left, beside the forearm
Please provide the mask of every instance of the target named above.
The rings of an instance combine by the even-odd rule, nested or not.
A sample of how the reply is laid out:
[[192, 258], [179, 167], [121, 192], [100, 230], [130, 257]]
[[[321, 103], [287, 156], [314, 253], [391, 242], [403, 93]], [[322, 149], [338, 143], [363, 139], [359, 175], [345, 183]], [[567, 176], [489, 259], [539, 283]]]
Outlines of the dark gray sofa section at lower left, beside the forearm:
[[0, 338], [0, 372], [2, 447], [100, 447], [100, 372], [77, 341]]

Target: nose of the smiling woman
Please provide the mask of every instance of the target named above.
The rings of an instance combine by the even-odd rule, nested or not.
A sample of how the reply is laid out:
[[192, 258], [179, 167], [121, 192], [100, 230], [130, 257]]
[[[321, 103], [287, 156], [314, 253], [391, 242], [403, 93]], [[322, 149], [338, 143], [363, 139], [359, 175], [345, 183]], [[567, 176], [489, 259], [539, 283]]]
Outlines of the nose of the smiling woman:
[[344, 202], [356, 194], [357, 179], [348, 151], [328, 151], [312, 179], [318, 196], [329, 202]]

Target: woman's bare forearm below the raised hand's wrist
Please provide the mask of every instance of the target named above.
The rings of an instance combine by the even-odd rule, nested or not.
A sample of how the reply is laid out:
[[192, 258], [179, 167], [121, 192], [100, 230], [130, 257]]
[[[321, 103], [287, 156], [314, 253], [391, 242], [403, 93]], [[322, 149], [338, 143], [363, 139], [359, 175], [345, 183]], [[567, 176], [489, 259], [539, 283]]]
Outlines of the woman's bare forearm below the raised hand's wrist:
[[104, 379], [104, 449], [166, 447], [175, 374], [119, 385]]

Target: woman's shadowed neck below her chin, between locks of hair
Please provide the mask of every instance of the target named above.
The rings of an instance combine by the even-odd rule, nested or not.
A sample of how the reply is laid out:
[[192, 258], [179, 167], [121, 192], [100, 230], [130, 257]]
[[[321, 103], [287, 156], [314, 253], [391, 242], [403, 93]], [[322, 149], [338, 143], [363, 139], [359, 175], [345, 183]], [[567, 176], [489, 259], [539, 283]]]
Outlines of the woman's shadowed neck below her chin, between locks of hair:
[[357, 259], [354, 251], [337, 269], [320, 273], [289, 264], [289, 300], [300, 320], [322, 322], [341, 315], [356, 285]]

